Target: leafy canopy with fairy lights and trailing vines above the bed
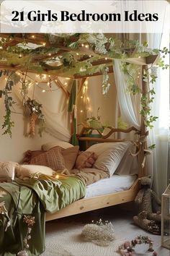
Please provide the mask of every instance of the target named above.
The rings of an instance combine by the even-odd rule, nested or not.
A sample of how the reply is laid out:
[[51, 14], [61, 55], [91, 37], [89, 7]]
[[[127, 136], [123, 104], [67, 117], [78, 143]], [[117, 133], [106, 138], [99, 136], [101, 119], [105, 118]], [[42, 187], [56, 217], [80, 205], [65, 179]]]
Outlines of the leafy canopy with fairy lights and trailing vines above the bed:
[[[168, 48], [162, 50], [148, 48], [148, 44], [144, 42], [140, 44], [138, 40], [126, 40], [122, 43], [115, 38], [107, 38], [100, 33], [75, 33], [75, 34], [58, 34], [44, 35], [44, 42], [37, 43], [37, 47], [30, 48], [29, 34], [22, 34], [20, 43], [11, 44], [11, 41], [17, 37], [17, 34], [9, 35], [7, 38], [0, 39], [0, 63], [10, 68], [18, 68], [26, 71], [23, 77], [17, 75], [15, 71], [2, 70], [0, 77], [6, 75], [6, 85], [0, 90], [0, 98], [4, 98], [4, 106], [6, 115], [4, 116], [4, 134], [12, 136], [11, 114], [14, 112], [14, 100], [12, 98], [12, 88], [17, 82], [21, 82], [21, 95], [27, 113], [30, 113], [30, 135], [35, 134], [35, 121], [40, 121], [39, 133], [41, 135], [44, 129], [44, 116], [42, 114], [42, 105], [35, 100], [27, 98], [28, 85], [27, 71], [40, 73], [50, 72], [63, 77], [88, 76], [101, 72], [103, 74], [102, 89], [103, 93], [109, 90], [109, 64], [99, 61], [103, 59], [122, 59], [122, 72], [128, 80], [128, 91], [135, 95], [142, 93], [138, 86], [139, 67], [135, 64], [128, 64], [128, 58], [138, 58], [143, 56], [161, 54], [156, 65], [151, 65], [143, 73], [143, 80], [150, 82], [151, 88], [141, 97], [141, 111], [146, 126], [153, 127], [153, 121], [157, 117], [151, 115], [151, 103], [153, 102], [155, 90], [154, 82], [156, 81], [156, 69], [161, 67], [167, 69], [168, 64], [164, 63], [164, 57], [169, 54]], [[36, 43], [36, 40], [35, 40]], [[70, 49], [70, 51], [69, 51]], [[98, 64], [97, 64], [98, 61]], [[7, 68], [6, 68], [7, 69]]]

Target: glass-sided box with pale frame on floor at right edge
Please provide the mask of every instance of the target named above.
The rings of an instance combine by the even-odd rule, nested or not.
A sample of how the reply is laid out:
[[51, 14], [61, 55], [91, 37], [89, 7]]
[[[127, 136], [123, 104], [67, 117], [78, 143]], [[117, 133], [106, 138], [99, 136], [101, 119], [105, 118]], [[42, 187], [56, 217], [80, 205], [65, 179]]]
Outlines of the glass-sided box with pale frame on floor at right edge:
[[170, 249], [170, 184], [162, 194], [161, 245]]

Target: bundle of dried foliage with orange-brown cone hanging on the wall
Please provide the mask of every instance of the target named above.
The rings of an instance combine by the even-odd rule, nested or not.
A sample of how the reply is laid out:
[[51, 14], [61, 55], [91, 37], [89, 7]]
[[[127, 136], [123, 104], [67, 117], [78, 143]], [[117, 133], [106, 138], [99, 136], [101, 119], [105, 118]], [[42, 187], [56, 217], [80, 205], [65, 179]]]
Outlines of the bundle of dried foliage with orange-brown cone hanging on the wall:
[[40, 121], [40, 127], [38, 129], [38, 133], [42, 136], [42, 131], [45, 129], [45, 118], [42, 114], [42, 104], [37, 103], [35, 100], [31, 100], [30, 98], [24, 103], [25, 114], [30, 116], [30, 136], [35, 136], [35, 122]]

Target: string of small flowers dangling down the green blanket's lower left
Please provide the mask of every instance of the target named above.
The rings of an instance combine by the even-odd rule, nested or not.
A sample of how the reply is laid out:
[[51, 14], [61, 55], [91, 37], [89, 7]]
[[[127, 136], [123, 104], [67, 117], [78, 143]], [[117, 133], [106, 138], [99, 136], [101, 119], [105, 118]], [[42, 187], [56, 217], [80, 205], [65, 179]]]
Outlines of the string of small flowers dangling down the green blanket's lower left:
[[29, 249], [28, 240], [31, 239], [32, 226], [35, 224], [34, 216], [25, 216], [23, 222], [27, 223], [27, 234], [24, 236], [24, 250], [17, 253], [17, 256], [28, 256], [26, 249]]

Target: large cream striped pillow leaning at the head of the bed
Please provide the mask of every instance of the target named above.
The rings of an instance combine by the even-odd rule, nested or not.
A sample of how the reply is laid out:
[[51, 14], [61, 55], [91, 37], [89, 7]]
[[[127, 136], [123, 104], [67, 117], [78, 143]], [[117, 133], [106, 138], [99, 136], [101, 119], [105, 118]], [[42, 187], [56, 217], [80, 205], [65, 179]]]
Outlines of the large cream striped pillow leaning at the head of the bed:
[[130, 145], [130, 142], [104, 142], [92, 145], [87, 151], [98, 155], [93, 168], [106, 171], [109, 176], [112, 176]]

